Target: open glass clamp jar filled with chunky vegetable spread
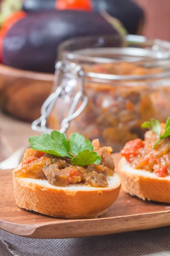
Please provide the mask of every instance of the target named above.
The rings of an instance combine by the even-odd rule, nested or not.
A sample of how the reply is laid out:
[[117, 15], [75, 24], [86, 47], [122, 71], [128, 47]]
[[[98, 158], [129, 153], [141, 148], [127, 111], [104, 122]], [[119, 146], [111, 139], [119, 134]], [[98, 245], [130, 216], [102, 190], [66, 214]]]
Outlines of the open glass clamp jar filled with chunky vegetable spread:
[[59, 47], [54, 92], [33, 122], [99, 139], [118, 152], [142, 122], [170, 116], [170, 43], [143, 36], [76, 38]]

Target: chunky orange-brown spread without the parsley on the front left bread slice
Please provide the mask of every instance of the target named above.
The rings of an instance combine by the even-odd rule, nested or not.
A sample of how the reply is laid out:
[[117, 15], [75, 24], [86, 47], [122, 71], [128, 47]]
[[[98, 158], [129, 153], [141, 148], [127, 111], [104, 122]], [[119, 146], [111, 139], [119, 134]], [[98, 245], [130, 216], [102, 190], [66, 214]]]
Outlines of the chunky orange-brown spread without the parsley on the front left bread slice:
[[48, 180], [54, 186], [67, 186], [71, 183], [93, 187], [107, 187], [107, 176], [113, 176], [114, 162], [111, 147], [100, 147], [99, 140], [92, 142], [94, 151], [99, 154], [100, 164], [77, 166], [71, 164], [71, 158], [45, 154], [27, 148], [21, 168], [15, 172], [18, 177]]

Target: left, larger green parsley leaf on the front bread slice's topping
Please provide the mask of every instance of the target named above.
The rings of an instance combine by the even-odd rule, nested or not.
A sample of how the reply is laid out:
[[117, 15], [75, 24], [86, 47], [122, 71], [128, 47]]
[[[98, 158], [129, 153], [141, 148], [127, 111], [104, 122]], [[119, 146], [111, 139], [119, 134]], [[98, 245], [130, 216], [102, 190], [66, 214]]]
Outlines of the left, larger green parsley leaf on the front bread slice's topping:
[[37, 151], [53, 154], [58, 157], [73, 158], [68, 151], [68, 143], [65, 134], [61, 134], [59, 131], [52, 131], [51, 135], [41, 134], [41, 137], [30, 137], [29, 144], [31, 148]]

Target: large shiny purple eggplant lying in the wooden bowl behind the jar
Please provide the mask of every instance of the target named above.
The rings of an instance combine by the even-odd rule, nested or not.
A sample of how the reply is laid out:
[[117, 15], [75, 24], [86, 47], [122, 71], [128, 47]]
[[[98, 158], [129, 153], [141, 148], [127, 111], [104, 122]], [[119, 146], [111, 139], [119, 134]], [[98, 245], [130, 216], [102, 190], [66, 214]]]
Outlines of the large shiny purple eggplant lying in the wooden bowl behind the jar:
[[120, 36], [99, 13], [68, 10], [31, 13], [8, 30], [2, 44], [2, 62], [23, 70], [54, 73], [59, 44], [85, 35]]

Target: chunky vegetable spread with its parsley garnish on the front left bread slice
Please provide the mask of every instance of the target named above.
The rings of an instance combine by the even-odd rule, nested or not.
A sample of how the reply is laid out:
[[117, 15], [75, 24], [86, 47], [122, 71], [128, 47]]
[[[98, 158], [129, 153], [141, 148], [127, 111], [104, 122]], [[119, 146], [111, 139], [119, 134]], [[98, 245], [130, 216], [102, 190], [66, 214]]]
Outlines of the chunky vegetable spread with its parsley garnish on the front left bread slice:
[[47, 179], [55, 186], [70, 183], [94, 187], [107, 187], [106, 177], [113, 176], [114, 162], [111, 147], [100, 148], [99, 140], [85, 140], [77, 133], [67, 140], [65, 134], [52, 131], [29, 138], [31, 148], [26, 149], [19, 177]]

